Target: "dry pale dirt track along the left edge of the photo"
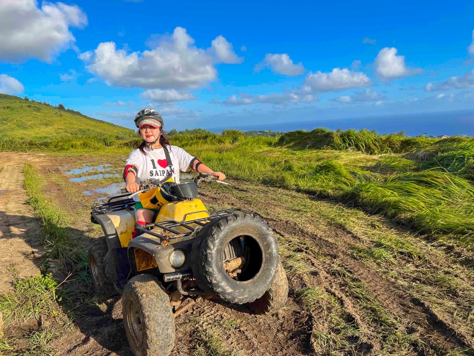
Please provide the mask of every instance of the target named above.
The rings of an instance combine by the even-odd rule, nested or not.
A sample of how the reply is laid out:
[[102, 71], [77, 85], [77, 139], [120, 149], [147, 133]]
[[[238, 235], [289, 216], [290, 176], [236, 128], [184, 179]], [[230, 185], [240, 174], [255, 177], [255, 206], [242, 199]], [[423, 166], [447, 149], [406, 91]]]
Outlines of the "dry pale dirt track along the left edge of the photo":
[[0, 293], [12, 288], [13, 279], [40, 274], [35, 264], [38, 249], [34, 237], [41, 227], [26, 204], [23, 189], [24, 153], [0, 153]]

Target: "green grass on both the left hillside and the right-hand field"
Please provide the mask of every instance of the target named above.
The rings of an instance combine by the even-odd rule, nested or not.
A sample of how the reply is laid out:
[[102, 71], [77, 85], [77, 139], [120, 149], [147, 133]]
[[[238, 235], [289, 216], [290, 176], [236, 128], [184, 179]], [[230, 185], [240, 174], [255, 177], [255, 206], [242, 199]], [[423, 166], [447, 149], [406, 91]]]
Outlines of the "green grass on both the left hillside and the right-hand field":
[[[28, 135], [19, 139], [15, 125], [10, 125], [10, 131], [0, 136], [0, 149], [125, 157], [140, 141], [132, 130], [17, 97], [0, 97], [0, 117], [9, 123], [16, 123], [14, 113], [24, 110], [29, 116], [21, 120], [42, 126], [29, 130], [31, 125], [22, 121]], [[68, 116], [73, 129], [67, 135], [53, 130], [66, 113], [77, 116]], [[321, 128], [289, 132], [279, 138], [247, 137], [237, 130], [226, 130], [222, 135], [191, 130], [173, 135], [172, 143], [228, 176], [337, 199], [382, 213], [421, 233], [455, 239], [465, 246], [473, 244], [473, 138], [435, 139]], [[119, 179], [104, 178], [101, 183]]]

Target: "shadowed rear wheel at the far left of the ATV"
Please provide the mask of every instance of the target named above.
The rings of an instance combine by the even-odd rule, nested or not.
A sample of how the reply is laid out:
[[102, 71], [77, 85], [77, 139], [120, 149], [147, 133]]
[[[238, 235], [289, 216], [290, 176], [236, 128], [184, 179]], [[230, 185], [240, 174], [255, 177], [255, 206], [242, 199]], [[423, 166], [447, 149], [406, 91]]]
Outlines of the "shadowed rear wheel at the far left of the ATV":
[[104, 258], [108, 252], [105, 236], [92, 240], [89, 245], [88, 259], [92, 275], [92, 283], [96, 291], [105, 296], [110, 297], [116, 295], [117, 292], [112, 281], [105, 274]]

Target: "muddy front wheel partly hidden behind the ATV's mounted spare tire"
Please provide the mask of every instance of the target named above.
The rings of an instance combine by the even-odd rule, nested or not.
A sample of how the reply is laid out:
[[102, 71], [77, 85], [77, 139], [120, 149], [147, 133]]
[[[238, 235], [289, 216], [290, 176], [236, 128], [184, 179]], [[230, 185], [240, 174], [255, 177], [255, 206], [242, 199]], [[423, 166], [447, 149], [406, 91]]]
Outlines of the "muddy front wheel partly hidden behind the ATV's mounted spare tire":
[[288, 279], [281, 262], [270, 289], [256, 301], [248, 303], [248, 307], [255, 314], [275, 314], [285, 306], [288, 299]]

